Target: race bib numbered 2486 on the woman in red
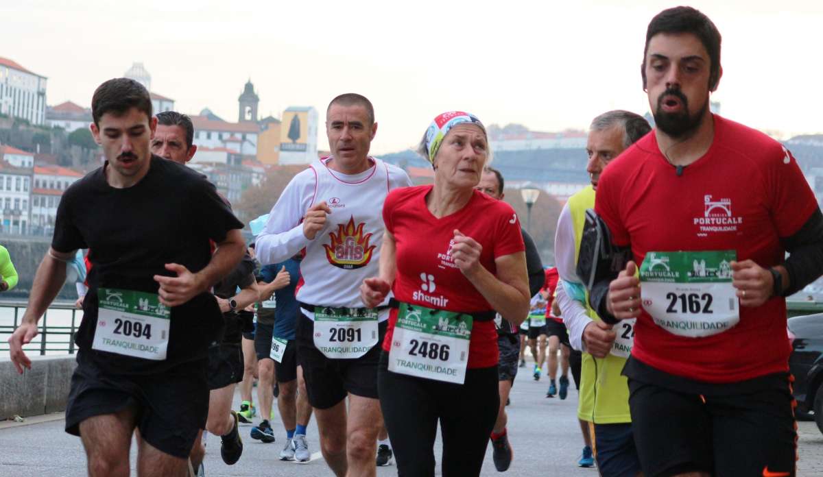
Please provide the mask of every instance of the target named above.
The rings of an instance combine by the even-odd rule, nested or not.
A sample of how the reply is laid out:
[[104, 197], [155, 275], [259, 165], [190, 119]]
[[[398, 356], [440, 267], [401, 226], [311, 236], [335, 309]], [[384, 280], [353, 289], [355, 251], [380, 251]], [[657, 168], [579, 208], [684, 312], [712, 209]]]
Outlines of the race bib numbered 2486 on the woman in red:
[[401, 303], [388, 370], [463, 384], [472, 321], [471, 315]]

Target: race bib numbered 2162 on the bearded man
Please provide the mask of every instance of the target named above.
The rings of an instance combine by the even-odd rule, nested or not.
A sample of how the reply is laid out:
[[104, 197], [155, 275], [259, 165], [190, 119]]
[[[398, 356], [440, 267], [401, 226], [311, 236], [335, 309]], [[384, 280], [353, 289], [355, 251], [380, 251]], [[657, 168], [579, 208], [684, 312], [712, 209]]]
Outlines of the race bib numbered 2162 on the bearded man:
[[730, 262], [737, 252], [649, 252], [640, 266], [643, 308], [677, 336], [712, 336], [740, 321]]

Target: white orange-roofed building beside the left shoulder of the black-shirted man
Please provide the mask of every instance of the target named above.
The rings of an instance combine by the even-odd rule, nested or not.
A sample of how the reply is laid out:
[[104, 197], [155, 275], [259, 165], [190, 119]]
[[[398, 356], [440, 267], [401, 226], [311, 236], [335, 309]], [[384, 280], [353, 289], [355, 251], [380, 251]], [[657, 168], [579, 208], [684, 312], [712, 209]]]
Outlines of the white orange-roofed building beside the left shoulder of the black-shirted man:
[[76, 170], [58, 165], [36, 166], [34, 187], [31, 189], [31, 231], [34, 234], [51, 234], [57, 206], [63, 192], [83, 177]]

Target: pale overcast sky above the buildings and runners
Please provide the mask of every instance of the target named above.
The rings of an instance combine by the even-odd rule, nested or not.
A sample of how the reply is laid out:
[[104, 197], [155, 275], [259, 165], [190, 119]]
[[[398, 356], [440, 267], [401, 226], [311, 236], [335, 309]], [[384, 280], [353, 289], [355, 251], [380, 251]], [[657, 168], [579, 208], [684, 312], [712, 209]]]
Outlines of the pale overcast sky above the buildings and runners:
[[[0, 0], [0, 56], [49, 78], [48, 102], [87, 107], [133, 62], [185, 113], [237, 120], [251, 78], [259, 113], [354, 91], [374, 103], [372, 151], [416, 143], [436, 114], [535, 131], [584, 129], [607, 109], [648, 110], [639, 66], [649, 20], [677, 2]], [[690, 2], [723, 35], [713, 99], [741, 123], [823, 132], [823, 2]], [[319, 128], [319, 146], [328, 143]]]

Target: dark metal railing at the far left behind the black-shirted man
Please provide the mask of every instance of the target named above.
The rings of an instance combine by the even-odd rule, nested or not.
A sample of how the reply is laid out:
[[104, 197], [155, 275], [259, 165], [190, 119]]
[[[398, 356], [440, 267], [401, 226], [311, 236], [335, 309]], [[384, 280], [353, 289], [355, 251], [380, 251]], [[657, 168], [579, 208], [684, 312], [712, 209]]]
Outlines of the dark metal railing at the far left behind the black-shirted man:
[[[11, 335], [17, 326], [20, 324], [23, 313], [29, 303], [25, 301], [2, 301], [0, 302], [0, 309], [13, 308], [14, 317], [12, 318], [12, 325], [0, 325], [0, 336], [4, 339], [0, 340], [0, 352], [8, 352], [7, 336]], [[70, 310], [72, 312], [71, 322], [68, 325], [49, 325], [49, 312], [53, 310]], [[39, 334], [32, 340], [31, 343], [25, 345], [23, 350], [28, 353], [35, 353], [40, 351], [41, 355], [46, 353], [67, 353], [74, 354], [76, 346], [74, 345], [74, 334], [77, 332], [77, 327], [80, 326], [80, 319], [82, 317], [82, 310], [77, 309], [73, 302], [52, 303], [43, 317], [38, 323]], [[58, 339], [58, 337], [67, 336], [67, 339]]]

